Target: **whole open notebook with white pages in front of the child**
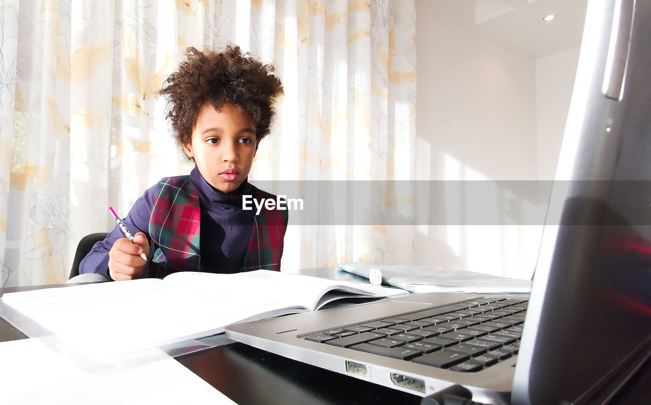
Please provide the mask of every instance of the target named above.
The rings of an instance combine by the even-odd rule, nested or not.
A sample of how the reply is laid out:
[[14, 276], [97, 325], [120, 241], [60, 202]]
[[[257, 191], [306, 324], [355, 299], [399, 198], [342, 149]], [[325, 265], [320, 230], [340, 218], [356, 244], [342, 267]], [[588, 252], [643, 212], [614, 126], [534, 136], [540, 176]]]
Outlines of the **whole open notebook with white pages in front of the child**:
[[236, 322], [306, 311], [333, 284], [342, 285], [345, 291], [375, 296], [406, 293], [377, 285], [256, 270], [240, 274], [179, 272], [165, 280], [9, 293], [2, 300], [29, 317], [31, 324], [48, 330], [79, 352], [80, 357], [101, 362], [221, 333]]

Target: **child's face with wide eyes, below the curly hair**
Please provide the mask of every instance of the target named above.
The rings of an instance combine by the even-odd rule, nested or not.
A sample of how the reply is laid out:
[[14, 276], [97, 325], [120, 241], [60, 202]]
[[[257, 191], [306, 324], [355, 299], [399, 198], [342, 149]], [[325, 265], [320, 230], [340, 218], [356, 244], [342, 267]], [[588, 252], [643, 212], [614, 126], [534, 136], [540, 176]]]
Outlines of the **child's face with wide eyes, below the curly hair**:
[[258, 150], [253, 117], [225, 104], [216, 111], [205, 103], [199, 111], [191, 142], [183, 146], [201, 175], [219, 192], [228, 194], [249, 176]]

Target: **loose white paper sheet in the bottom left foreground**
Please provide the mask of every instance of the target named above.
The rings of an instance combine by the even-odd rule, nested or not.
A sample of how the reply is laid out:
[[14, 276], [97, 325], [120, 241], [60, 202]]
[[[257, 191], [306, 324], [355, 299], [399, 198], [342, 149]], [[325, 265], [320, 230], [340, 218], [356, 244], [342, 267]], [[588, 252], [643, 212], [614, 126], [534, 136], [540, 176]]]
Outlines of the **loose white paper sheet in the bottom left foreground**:
[[156, 361], [92, 373], [38, 339], [20, 339], [0, 343], [0, 359], [3, 405], [235, 404], [163, 352]]

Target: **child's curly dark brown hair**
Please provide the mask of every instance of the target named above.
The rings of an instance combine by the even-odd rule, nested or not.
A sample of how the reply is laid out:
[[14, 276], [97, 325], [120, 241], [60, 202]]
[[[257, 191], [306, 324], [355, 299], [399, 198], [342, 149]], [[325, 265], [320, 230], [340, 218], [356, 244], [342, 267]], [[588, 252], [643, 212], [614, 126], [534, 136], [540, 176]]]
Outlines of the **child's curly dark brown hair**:
[[283, 94], [281, 81], [271, 75], [270, 64], [242, 54], [240, 47], [227, 46], [223, 52], [186, 49], [187, 60], [163, 83], [159, 91], [168, 97], [167, 118], [172, 122], [179, 146], [191, 142], [201, 107], [212, 103], [215, 109], [232, 104], [253, 116], [256, 140], [266, 137], [275, 114], [275, 99]]

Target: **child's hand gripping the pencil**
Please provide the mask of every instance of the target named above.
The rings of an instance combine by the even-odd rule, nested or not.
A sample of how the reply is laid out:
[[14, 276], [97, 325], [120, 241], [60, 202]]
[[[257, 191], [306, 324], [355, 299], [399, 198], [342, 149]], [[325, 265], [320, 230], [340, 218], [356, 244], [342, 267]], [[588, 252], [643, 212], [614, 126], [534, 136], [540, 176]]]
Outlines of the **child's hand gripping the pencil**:
[[142, 232], [133, 235], [133, 242], [121, 238], [113, 243], [109, 251], [109, 277], [113, 280], [133, 280], [143, 274], [147, 262], [140, 254], [149, 254], [149, 242]]

